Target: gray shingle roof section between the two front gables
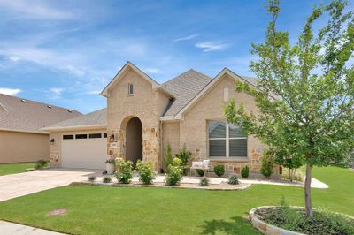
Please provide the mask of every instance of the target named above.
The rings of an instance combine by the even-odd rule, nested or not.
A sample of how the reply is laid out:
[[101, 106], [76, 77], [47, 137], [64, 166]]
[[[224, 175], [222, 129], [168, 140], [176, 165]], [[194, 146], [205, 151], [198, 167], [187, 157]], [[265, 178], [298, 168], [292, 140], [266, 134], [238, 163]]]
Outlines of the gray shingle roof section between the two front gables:
[[189, 103], [211, 80], [210, 77], [203, 73], [191, 69], [162, 84], [162, 86], [176, 97], [170, 104], [169, 109], [166, 110], [164, 116], [176, 115], [178, 111]]

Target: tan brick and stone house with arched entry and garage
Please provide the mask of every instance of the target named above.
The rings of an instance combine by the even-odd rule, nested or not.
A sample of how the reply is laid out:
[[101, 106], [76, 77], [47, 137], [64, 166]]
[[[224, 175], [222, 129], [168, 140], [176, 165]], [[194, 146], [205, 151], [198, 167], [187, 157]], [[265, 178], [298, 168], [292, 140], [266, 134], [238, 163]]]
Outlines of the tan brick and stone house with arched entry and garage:
[[106, 157], [151, 161], [163, 167], [165, 147], [173, 155], [185, 144], [194, 159], [223, 163], [228, 172], [260, 168], [265, 148], [253, 136], [229, 125], [223, 106], [230, 98], [256, 114], [254, 98], [235, 92], [235, 80], [256, 86], [257, 80], [223, 69], [215, 78], [189, 70], [158, 84], [128, 62], [104, 88], [107, 109], [43, 130], [50, 131], [50, 163], [59, 167], [104, 169]]

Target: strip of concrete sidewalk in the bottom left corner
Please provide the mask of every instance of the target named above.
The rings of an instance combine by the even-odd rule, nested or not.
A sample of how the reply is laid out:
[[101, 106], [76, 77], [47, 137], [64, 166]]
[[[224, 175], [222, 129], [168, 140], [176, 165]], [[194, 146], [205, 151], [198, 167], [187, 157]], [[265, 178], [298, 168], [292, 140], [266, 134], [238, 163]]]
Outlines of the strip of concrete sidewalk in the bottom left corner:
[[22, 224], [14, 224], [0, 220], [0, 234], [1, 235], [60, 235], [56, 231], [42, 230]]

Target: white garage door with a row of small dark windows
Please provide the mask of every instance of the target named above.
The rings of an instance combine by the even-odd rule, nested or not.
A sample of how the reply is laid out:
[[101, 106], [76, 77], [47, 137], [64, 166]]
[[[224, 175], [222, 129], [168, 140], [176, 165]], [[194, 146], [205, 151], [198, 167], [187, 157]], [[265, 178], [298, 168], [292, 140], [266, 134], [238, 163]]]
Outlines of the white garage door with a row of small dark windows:
[[70, 133], [62, 135], [61, 167], [105, 169], [107, 158], [105, 133]]

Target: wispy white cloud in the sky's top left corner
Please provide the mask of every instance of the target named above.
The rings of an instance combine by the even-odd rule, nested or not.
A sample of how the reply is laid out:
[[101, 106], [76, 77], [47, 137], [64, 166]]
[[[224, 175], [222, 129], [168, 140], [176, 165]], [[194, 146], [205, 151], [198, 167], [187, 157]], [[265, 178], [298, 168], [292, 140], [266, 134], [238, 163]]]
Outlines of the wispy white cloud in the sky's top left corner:
[[0, 0], [0, 7], [32, 19], [72, 19], [74, 16], [69, 11], [60, 11], [39, 1]]

